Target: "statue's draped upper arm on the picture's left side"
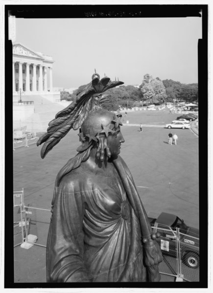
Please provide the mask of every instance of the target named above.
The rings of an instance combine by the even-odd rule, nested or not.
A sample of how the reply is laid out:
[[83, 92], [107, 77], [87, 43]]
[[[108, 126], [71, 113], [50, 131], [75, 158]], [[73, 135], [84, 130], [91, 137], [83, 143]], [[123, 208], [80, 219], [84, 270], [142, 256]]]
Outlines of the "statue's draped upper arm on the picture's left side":
[[55, 198], [48, 244], [50, 282], [90, 282], [83, 262], [84, 200], [65, 182]]

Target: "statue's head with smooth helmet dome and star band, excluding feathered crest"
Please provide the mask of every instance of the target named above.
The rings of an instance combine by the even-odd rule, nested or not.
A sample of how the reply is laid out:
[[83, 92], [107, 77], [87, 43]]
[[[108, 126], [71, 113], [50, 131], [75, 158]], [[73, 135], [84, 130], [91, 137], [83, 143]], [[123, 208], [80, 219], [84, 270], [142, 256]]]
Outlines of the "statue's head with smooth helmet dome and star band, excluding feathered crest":
[[79, 137], [82, 143], [77, 151], [84, 151], [93, 144], [97, 159], [104, 160], [118, 156], [120, 145], [124, 142], [120, 132], [121, 116], [114, 112], [99, 109], [91, 112], [81, 125]]

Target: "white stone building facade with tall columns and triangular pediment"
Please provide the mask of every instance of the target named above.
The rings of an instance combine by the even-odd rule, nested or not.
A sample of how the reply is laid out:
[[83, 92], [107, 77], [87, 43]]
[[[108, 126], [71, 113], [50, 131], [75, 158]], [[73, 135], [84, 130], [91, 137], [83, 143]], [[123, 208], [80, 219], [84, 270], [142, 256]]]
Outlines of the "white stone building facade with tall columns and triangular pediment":
[[13, 44], [13, 95], [19, 95], [20, 89], [25, 95], [51, 93], [53, 63], [51, 56]]

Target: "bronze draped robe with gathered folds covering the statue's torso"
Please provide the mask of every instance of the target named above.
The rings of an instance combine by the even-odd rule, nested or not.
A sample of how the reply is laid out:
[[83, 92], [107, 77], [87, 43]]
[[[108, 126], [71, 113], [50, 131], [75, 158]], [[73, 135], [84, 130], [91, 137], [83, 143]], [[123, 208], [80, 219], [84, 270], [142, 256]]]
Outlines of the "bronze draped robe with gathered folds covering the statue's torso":
[[141, 224], [133, 209], [142, 202], [124, 161], [118, 156], [113, 166], [107, 177], [80, 166], [61, 179], [52, 202], [47, 282], [147, 280]]

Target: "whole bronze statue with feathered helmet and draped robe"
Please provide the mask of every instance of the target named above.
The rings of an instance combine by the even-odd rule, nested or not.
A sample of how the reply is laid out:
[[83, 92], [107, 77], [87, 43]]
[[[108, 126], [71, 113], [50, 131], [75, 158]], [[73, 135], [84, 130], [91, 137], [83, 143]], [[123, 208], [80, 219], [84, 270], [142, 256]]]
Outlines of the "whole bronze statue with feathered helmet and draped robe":
[[41, 156], [80, 127], [81, 146], [59, 171], [47, 239], [47, 282], [157, 282], [162, 253], [132, 175], [119, 156], [121, 115], [101, 109], [101, 93], [123, 84], [92, 82], [56, 115]]

